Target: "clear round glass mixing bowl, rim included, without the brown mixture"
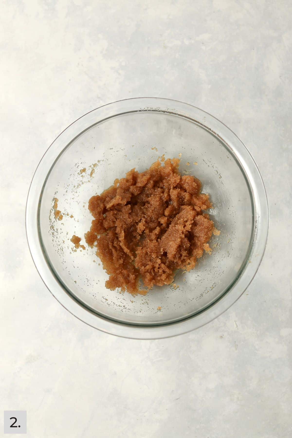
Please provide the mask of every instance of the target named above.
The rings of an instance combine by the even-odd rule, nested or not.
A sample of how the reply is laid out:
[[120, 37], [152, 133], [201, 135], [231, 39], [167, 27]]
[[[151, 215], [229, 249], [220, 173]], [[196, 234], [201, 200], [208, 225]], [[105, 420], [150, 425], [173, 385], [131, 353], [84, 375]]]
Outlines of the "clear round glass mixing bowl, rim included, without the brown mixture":
[[[93, 219], [88, 200], [163, 154], [181, 154], [180, 172], [201, 180], [220, 235], [209, 242], [212, 254], [179, 271], [175, 285], [135, 297], [108, 290], [108, 276], [84, 242]], [[26, 230], [40, 276], [68, 311], [114, 335], [163, 338], [206, 324], [244, 292], [264, 254], [267, 196], [252, 156], [215, 117], [169, 99], [127, 99], [85, 114], [49, 147], [29, 189]], [[73, 234], [85, 250], [75, 250]]]

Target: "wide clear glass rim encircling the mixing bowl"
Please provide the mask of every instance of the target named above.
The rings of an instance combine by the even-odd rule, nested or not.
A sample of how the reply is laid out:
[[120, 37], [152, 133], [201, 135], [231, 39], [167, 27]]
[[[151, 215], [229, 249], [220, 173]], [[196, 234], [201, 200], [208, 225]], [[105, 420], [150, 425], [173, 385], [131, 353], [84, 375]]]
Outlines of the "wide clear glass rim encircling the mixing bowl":
[[[247, 253], [248, 259], [239, 271], [239, 276], [229, 285], [228, 290], [218, 297], [214, 303], [197, 314], [183, 320], [161, 325], [133, 325], [119, 322], [93, 313], [89, 308], [84, 307], [68, 293], [66, 287], [54, 274], [52, 267], [46, 260], [39, 236], [38, 212], [43, 187], [60, 154], [76, 137], [92, 125], [101, 123], [109, 117], [137, 111], [172, 113], [190, 118], [211, 131], [215, 137], [218, 137], [228, 146], [229, 152], [239, 162], [251, 192], [254, 211], [254, 226], [249, 252]], [[43, 175], [45, 175], [45, 178], [42, 177]], [[39, 180], [42, 180], [41, 187]], [[56, 300], [71, 314], [96, 329], [116, 336], [132, 339], [161, 339], [183, 334], [207, 324], [226, 311], [244, 293], [255, 276], [264, 255], [269, 226], [269, 209], [264, 182], [257, 164], [246, 146], [230, 128], [196, 106], [172, 99], [138, 97], [119, 100], [93, 109], [75, 120], [58, 135], [42, 156], [33, 175], [26, 203], [25, 226], [28, 247], [39, 275]]]

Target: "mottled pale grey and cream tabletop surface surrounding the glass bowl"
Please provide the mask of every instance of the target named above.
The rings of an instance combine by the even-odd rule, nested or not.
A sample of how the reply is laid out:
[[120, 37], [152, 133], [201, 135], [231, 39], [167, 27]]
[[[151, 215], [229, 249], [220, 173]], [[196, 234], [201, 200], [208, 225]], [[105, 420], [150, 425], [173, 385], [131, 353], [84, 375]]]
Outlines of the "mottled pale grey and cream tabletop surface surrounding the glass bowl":
[[[292, 436], [291, 14], [288, 0], [1, 1], [0, 410], [27, 410], [28, 437]], [[143, 342], [68, 313], [25, 237], [50, 143], [91, 109], [137, 96], [188, 102], [238, 134], [271, 218], [232, 308]]]

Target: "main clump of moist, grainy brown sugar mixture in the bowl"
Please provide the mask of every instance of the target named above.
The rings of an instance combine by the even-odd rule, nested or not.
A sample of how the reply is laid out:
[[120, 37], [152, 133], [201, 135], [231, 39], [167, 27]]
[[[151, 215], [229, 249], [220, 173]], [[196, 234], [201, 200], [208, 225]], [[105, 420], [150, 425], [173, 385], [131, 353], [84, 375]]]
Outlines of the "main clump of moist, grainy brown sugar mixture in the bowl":
[[[101, 195], [92, 196], [94, 217], [85, 234], [109, 275], [106, 287], [145, 294], [190, 271], [215, 230], [201, 182], [179, 173], [179, 159], [158, 160], [143, 173], [130, 170]], [[146, 290], [141, 290], [139, 280]]]

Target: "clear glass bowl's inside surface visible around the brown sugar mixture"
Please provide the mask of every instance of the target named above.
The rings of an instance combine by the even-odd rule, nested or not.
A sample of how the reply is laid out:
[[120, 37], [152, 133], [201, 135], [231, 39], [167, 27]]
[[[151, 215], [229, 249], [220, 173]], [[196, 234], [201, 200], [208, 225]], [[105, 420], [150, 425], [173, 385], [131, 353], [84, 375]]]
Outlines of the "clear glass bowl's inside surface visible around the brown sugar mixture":
[[[155, 287], [144, 297], [108, 290], [108, 276], [84, 242], [93, 219], [88, 200], [130, 169], [146, 170], [163, 154], [181, 154], [181, 173], [201, 180], [220, 235], [211, 239], [212, 254], [204, 254], [191, 272], [179, 271], [175, 285]], [[54, 198], [62, 220], [55, 219]], [[74, 138], [46, 177], [38, 214], [43, 252], [67, 293], [92, 312], [134, 325], [179, 321], [218, 300], [248, 262], [253, 222], [250, 186], [232, 148], [190, 118], [155, 110], [109, 117]], [[85, 250], [75, 251], [73, 234], [82, 238]]]

